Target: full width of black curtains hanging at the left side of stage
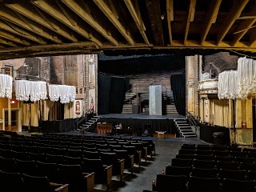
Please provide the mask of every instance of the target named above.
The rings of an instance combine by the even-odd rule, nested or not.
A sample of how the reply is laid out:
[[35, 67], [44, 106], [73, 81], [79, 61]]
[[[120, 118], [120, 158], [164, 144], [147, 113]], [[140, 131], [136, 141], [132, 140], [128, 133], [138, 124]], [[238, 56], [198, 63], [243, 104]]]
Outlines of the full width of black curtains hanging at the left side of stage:
[[98, 74], [98, 114], [121, 114], [130, 78]]

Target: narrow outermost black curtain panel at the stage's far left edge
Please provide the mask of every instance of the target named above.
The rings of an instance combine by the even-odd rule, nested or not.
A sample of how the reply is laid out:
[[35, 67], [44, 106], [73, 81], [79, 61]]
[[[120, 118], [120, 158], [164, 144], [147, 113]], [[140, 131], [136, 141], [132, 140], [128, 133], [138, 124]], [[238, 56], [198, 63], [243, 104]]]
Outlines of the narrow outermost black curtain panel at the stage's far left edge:
[[111, 76], [98, 74], [98, 114], [110, 113]]

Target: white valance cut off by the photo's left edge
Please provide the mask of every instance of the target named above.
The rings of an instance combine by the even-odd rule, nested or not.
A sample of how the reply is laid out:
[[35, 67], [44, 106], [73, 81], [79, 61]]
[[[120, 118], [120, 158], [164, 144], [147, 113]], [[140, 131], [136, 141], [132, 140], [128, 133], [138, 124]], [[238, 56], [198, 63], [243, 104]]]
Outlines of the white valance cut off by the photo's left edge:
[[0, 74], [0, 98], [11, 98], [13, 78], [9, 74]]

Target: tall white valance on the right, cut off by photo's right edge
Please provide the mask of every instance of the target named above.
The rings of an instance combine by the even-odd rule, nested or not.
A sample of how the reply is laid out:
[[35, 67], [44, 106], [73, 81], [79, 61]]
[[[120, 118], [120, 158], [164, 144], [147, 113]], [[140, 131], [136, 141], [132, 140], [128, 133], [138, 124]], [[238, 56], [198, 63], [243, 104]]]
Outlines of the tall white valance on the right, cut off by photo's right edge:
[[256, 61], [251, 58], [238, 58], [239, 98], [256, 93]]

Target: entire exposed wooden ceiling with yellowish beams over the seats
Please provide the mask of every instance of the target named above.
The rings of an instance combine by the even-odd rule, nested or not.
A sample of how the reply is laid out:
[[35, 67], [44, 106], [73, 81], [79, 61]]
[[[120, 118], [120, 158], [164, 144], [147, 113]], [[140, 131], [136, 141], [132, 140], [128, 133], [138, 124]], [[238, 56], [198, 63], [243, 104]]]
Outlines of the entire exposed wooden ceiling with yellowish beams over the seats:
[[0, 59], [111, 50], [256, 52], [255, 22], [256, 0], [0, 0]]

